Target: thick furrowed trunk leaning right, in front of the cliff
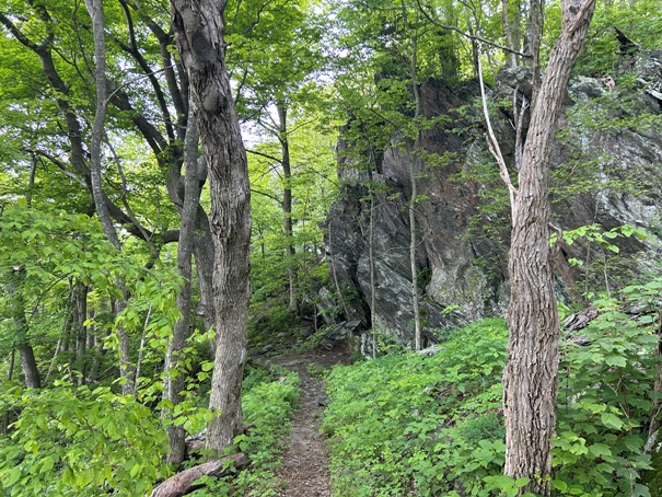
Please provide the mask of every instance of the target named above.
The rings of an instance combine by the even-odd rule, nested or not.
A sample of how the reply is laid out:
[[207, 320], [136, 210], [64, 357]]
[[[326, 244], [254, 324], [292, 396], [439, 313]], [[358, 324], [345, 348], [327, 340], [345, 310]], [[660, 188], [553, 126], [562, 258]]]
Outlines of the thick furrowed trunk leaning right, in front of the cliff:
[[558, 391], [559, 317], [549, 248], [549, 155], [570, 72], [594, 0], [562, 1], [562, 28], [533, 104], [513, 209], [508, 363], [503, 371], [504, 473], [531, 482], [521, 492], [550, 495]]

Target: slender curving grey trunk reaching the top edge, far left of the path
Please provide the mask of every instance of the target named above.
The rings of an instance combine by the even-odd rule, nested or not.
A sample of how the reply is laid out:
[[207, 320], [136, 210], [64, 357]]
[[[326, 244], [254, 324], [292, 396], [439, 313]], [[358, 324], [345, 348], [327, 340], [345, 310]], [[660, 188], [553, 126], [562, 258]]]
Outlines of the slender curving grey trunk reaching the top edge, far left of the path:
[[[90, 181], [92, 183], [92, 196], [96, 206], [98, 220], [104, 229], [108, 241], [121, 251], [121, 244], [117, 236], [117, 230], [111, 217], [106, 196], [102, 187], [101, 175], [101, 146], [104, 132], [104, 123], [106, 120], [106, 41], [104, 34], [104, 10], [102, 0], [85, 0], [88, 12], [92, 18], [92, 33], [94, 37], [94, 59], [95, 59], [95, 80], [96, 80], [96, 108], [94, 112], [94, 122], [92, 123], [92, 143], [90, 146]], [[127, 290], [124, 284], [118, 279], [117, 286], [121, 292], [121, 298], [115, 301], [114, 312], [120, 313], [126, 309]], [[119, 375], [124, 380], [121, 393], [129, 395], [133, 393], [133, 367], [129, 359], [129, 335], [119, 327]]]

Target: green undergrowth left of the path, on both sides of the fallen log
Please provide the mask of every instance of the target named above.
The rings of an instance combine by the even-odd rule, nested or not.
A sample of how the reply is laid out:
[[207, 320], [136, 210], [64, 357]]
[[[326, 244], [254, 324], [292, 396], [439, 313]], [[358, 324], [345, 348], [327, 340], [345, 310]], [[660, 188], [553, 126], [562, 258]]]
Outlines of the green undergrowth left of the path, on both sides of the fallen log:
[[[236, 437], [231, 451], [246, 453], [252, 464], [224, 479], [206, 478], [195, 495], [276, 495], [298, 401], [297, 373], [278, 366], [247, 367], [244, 423], [255, 427]], [[18, 419], [0, 435], [0, 495], [144, 496], [172, 474], [164, 462], [167, 434], [159, 413], [131, 395], [66, 382], [40, 391], [16, 385], [0, 393], [0, 413], [7, 412]], [[201, 429], [208, 420], [205, 413], [188, 413], [184, 426]]]

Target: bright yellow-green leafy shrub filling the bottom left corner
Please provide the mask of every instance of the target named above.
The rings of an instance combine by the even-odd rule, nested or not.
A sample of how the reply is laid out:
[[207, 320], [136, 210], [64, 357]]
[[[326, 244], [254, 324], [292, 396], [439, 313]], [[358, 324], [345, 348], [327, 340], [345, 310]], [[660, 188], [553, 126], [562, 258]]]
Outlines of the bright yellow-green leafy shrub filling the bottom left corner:
[[149, 494], [167, 476], [167, 437], [153, 413], [107, 388], [12, 389], [0, 412], [18, 414], [0, 440], [3, 495]]

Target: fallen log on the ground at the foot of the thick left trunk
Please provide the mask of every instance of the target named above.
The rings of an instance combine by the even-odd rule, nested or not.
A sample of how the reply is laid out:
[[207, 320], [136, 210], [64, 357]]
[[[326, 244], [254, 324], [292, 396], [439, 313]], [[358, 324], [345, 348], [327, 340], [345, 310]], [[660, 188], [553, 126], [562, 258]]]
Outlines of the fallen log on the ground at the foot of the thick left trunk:
[[248, 456], [241, 452], [214, 459], [171, 476], [154, 488], [151, 497], [181, 497], [197, 489], [199, 485], [196, 485], [196, 481], [202, 476], [228, 476], [234, 471], [245, 470], [249, 464]]

